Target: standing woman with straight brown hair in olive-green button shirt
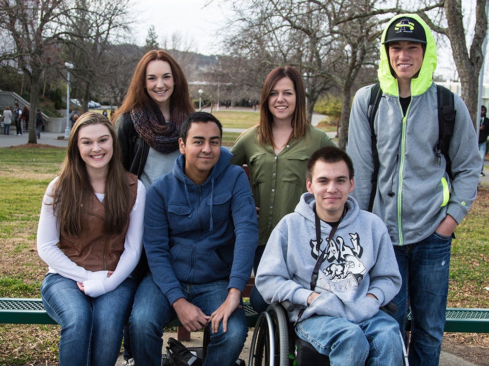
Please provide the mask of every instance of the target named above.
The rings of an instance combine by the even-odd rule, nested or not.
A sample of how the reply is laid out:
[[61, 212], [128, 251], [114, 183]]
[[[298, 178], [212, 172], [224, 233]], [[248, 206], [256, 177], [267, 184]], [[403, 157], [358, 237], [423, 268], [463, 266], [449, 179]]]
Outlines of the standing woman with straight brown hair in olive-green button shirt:
[[248, 165], [259, 213], [255, 273], [271, 231], [294, 211], [307, 191], [307, 160], [327, 145], [334, 143], [307, 118], [306, 91], [300, 74], [291, 66], [273, 69], [263, 84], [260, 122], [245, 131], [231, 148], [231, 163]]

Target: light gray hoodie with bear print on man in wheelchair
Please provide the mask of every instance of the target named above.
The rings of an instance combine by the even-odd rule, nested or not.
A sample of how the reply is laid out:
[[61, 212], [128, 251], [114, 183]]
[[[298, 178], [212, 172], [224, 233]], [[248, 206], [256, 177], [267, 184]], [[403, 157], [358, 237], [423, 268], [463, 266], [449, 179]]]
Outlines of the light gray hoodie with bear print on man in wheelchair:
[[[346, 204], [348, 211], [330, 243], [326, 242], [331, 226], [321, 221], [319, 252], [327, 245], [326, 259], [314, 290], [320, 295], [310, 306], [307, 299], [318, 253], [314, 196], [304, 193], [295, 212], [273, 229], [255, 278], [267, 303], [288, 300], [307, 306], [301, 320], [318, 314], [360, 323], [398, 293], [401, 279], [387, 228], [376, 215], [360, 210], [353, 197]], [[289, 320], [295, 321], [297, 314], [298, 310], [290, 313]]]

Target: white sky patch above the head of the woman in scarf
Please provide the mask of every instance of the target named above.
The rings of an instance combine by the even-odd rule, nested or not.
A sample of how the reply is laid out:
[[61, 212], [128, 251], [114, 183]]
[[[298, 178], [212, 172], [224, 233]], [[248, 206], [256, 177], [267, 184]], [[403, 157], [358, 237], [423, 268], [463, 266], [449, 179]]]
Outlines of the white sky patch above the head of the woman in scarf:
[[[191, 51], [204, 55], [222, 53], [222, 45], [216, 38], [225, 24], [225, 8], [222, 0], [133, 0], [137, 21], [134, 25], [135, 41], [145, 43], [150, 25], [155, 26], [158, 42], [172, 33], [193, 42]], [[161, 45], [161, 44], [160, 44]]]

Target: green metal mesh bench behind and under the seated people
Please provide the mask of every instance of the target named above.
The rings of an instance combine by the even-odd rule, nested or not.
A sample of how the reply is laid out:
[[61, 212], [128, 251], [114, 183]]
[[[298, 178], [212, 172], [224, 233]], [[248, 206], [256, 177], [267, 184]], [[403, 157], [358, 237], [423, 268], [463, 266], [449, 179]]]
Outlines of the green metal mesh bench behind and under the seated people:
[[[253, 327], [258, 314], [249, 303], [244, 304], [244, 310], [247, 325]], [[47, 315], [41, 299], [0, 298], [0, 324], [56, 323]], [[179, 325], [178, 321], [172, 325]], [[445, 332], [489, 333], [489, 309], [448, 307]]]

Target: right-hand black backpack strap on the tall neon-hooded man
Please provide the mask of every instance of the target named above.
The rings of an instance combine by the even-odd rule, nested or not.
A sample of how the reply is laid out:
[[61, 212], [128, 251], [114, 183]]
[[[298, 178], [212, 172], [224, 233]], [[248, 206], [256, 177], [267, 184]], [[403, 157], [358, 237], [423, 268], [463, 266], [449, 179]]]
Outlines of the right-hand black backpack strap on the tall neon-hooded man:
[[435, 154], [438, 157], [438, 164], [441, 164], [442, 154], [445, 156], [445, 171], [450, 180], [453, 180], [448, 148], [450, 138], [453, 135], [457, 111], [454, 108], [453, 93], [449, 89], [437, 84], [436, 93], [438, 98], [438, 142], [435, 145]]

